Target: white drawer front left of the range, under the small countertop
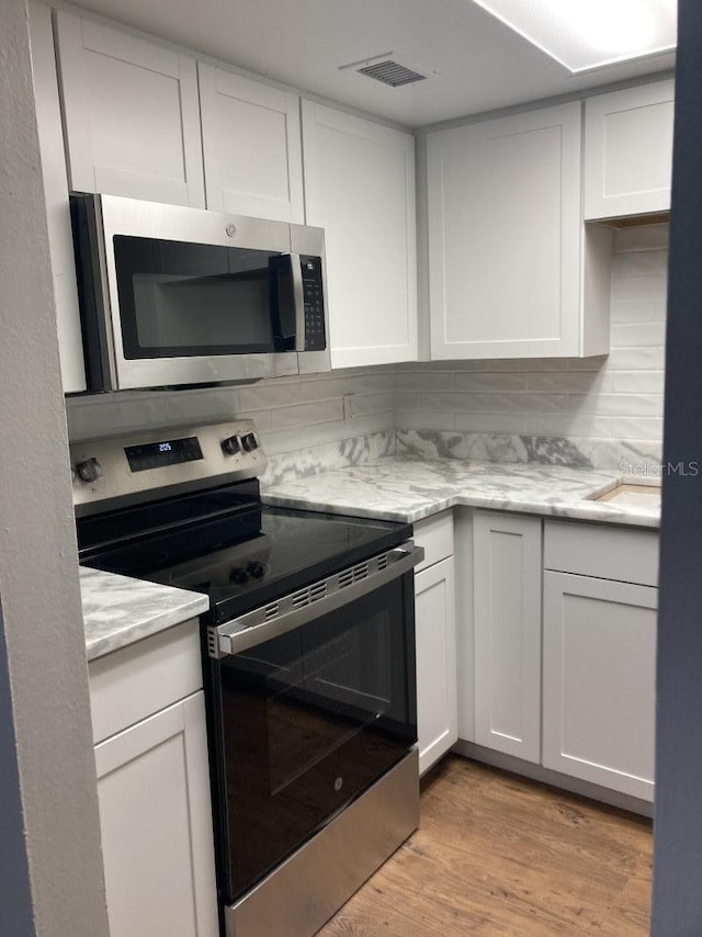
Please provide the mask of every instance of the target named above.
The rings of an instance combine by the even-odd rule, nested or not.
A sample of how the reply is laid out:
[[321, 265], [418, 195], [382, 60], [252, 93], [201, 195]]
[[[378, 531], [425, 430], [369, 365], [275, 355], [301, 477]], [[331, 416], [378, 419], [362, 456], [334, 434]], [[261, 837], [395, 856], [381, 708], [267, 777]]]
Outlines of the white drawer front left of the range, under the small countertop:
[[199, 622], [191, 620], [99, 657], [88, 667], [98, 744], [202, 689]]

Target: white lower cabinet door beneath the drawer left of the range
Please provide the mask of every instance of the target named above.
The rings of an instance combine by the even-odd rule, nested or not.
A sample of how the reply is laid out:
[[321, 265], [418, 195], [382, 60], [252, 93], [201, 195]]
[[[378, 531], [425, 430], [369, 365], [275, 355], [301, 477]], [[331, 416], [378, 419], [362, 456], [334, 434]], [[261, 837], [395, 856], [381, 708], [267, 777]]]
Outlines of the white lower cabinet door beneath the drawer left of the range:
[[202, 691], [95, 747], [112, 937], [217, 937]]

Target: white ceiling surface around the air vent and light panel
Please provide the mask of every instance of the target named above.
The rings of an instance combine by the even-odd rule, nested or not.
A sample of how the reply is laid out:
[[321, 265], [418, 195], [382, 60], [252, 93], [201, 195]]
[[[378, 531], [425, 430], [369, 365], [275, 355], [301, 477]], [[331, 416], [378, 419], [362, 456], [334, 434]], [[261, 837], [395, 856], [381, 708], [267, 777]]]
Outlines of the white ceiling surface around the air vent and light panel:
[[[80, 5], [408, 127], [675, 64], [668, 54], [571, 76], [473, 0], [83, 0]], [[388, 52], [430, 78], [393, 89], [353, 69], [339, 70]]]

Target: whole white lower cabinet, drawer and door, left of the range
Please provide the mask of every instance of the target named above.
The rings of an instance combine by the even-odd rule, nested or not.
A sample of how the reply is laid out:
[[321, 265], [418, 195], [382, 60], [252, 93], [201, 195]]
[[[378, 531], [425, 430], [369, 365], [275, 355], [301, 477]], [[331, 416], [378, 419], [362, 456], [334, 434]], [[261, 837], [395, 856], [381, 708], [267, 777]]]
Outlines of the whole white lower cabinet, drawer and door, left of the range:
[[111, 937], [218, 937], [197, 622], [89, 674]]

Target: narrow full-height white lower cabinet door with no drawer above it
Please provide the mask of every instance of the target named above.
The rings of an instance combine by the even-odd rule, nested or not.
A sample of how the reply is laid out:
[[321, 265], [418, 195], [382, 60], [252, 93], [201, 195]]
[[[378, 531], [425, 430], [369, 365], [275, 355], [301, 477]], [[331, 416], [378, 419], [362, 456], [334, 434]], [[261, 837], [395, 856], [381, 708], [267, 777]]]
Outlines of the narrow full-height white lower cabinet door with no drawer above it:
[[539, 764], [541, 755], [540, 518], [473, 519], [475, 741]]

